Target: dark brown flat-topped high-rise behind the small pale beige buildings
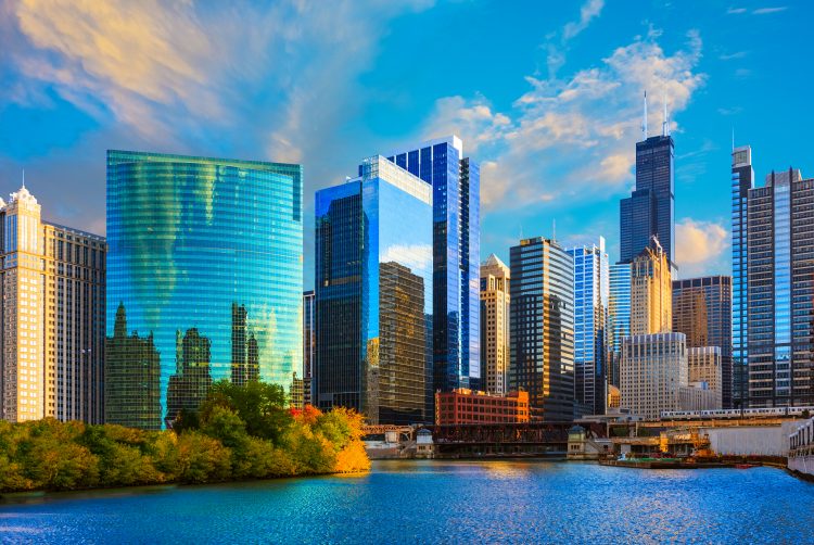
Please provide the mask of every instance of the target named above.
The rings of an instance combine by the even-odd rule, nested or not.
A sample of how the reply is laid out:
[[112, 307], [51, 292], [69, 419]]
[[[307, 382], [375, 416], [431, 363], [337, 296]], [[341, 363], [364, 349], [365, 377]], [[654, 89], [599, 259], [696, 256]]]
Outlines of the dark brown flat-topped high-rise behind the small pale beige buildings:
[[[673, 281], [673, 331], [687, 335], [687, 348], [717, 346], [725, 408], [733, 406], [732, 277], [709, 276]], [[694, 379], [690, 378], [690, 381]]]

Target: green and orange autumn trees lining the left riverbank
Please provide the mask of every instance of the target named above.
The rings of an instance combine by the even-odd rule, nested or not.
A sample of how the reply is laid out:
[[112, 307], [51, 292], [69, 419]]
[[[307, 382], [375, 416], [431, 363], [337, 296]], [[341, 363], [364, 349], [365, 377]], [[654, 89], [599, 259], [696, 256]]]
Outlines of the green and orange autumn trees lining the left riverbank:
[[173, 429], [0, 421], [0, 492], [209, 483], [365, 471], [361, 416], [285, 407], [277, 384], [215, 382]]

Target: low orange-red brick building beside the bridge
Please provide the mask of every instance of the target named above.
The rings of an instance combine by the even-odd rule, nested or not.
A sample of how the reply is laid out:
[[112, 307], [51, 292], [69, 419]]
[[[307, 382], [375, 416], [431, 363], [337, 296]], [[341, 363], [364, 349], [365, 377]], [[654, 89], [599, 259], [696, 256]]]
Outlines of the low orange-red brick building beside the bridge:
[[435, 423], [516, 423], [529, 421], [529, 392], [506, 396], [463, 388], [435, 394]]

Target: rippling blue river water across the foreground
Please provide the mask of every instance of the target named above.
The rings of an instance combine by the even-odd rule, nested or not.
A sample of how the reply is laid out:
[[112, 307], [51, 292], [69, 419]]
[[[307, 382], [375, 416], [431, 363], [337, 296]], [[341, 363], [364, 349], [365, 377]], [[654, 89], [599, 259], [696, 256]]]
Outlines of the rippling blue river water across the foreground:
[[0, 542], [814, 543], [814, 484], [771, 468], [378, 461], [358, 477], [13, 498]]

